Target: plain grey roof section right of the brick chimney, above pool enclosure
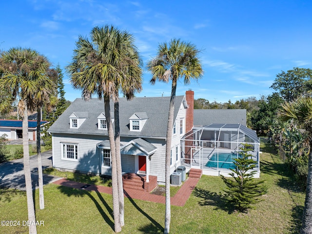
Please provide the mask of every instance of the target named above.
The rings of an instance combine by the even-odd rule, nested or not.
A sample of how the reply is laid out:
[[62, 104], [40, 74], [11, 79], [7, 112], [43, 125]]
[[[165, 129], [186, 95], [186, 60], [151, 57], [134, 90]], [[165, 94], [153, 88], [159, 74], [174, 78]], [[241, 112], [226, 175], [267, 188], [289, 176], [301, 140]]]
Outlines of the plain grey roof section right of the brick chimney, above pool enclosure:
[[194, 126], [210, 124], [247, 125], [246, 109], [194, 109]]

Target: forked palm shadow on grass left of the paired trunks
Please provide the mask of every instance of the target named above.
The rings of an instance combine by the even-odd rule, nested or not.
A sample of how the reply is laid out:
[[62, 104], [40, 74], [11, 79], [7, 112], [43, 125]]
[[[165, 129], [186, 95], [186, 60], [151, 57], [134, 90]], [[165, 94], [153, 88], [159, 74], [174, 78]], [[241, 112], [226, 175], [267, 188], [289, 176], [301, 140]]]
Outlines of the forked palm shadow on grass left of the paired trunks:
[[[95, 197], [91, 194], [90, 191], [86, 191], [86, 190], [80, 190], [80, 189], [73, 189], [73, 188], [69, 188], [69, 187], [65, 187], [65, 186], [59, 186], [58, 187], [59, 191], [66, 194], [67, 196], [75, 196], [75, 197], [84, 197], [84, 196], [88, 196], [90, 197], [90, 199], [94, 202], [94, 204], [96, 205], [98, 212], [102, 215], [104, 221], [111, 227], [111, 229], [114, 231], [114, 222], [111, 220], [111, 218], [104, 212], [103, 208], [101, 207], [101, 205], [98, 203], [98, 201], [95, 199]], [[109, 205], [107, 204], [107, 202], [104, 200], [104, 198], [102, 197], [102, 195], [96, 191], [98, 194], [98, 198], [101, 200], [101, 202], [103, 203], [103, 205], [105, 206], [105, 208], [107, 209], [107, 211], [111, 214], [111, 217], [113, 217], [112, 213], [112, 209], [109, 207]]]

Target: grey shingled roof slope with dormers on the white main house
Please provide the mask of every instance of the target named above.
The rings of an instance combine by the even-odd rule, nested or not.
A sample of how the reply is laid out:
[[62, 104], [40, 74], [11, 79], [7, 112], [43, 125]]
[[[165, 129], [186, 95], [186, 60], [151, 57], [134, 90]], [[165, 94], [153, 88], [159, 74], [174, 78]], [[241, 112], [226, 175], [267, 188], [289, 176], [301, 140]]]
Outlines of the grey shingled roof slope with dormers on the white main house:
[[[174, 119], [176, 119], [179, 108], [185, 100], [184, 96], [176, 96]], [[168, 112], [170, 97], [138, 97], [131, 101], [126, 98], [119, 99], [119, 125], [120, 136], [134, 137], [156, 137], [165, 138], [167, 133]], [[114, 103], [111, 101], [111, 111], [114, 110]], [[88, 112], [88, 118], [79, 128], [70, 128], [69, 116], [81, 110]], [[49, 128], [51, 133], [72, 133], [107, 135], [106, 129], [98, 129], [98, 116], [104, 112], [104, 100], [91, 99], [84, 101], [76, 99], [61, 114], [58, 120]], [[130, 131], [129, 118], [134, 113], [145, 113], [142, 117], [147, 117], [146, 123], [141, 131]], [[112, 116], [113, 117], [113, 116]], [[114, 125], [114, 123], [113, 123]]]

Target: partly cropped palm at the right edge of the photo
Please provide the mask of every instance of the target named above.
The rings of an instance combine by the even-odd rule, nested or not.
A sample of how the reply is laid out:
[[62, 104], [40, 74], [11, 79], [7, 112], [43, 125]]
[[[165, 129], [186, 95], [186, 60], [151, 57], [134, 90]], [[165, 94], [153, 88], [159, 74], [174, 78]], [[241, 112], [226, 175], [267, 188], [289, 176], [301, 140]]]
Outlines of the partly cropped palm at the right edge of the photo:
[[[279, 117], [287, 121], [296, 120], [308, 133], [310, 149], [312, 147], [312, 97], [302, 96], [295, 102], [284, 103], [278, 112]], [[305, 206], [303, 210], [301, 234], [312, 234], [312, 150], [309, 153], [308, 178]]]

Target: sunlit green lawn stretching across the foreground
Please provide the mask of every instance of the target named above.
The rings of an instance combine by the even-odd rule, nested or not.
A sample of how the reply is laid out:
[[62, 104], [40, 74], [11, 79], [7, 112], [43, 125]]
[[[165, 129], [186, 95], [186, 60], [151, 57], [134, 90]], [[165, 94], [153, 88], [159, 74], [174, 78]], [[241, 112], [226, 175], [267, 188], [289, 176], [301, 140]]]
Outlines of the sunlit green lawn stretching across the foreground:
[[[256, 209], [236, 213], [221, 199], [225, 187], [219, 177], [205, 176], [184, 207], [172, 206], [172, 234], [296, 234], [299, 233], [305, 193], [287, 172], [287, 166], [271, 147], [262, 148], [261, 179], [267, 194]], [[76, 190], [55, 184], [44, 187], [45, 209], [39, 210], [35, 191], [36, 218], [44, 221], [40, 234], [113, 234], [112, 196]], [[25, 192], [0, 191], [2, 220], [27, 220]], [[163, 233], [165, 205], [125, 199], [122, 234]], [[0, 227], [0, 233], [27, 233], [27, 227]]]

